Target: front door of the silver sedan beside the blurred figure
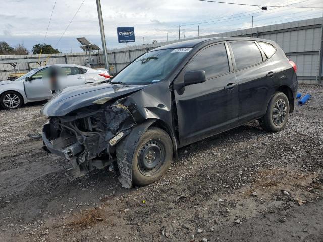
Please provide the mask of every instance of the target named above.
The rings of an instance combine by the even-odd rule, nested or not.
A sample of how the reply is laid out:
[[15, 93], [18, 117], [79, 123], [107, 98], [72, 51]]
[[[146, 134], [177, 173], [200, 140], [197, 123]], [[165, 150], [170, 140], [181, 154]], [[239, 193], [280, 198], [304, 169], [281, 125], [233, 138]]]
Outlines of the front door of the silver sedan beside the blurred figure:
[[32, 75], [29, 81], [24, 81], [25, 93], [28, 100], [40, 101], [50, 99], [52, 93], [48, 86], [44, 85], [42, 76], [47, 68], [42, 68], [34, 75]]

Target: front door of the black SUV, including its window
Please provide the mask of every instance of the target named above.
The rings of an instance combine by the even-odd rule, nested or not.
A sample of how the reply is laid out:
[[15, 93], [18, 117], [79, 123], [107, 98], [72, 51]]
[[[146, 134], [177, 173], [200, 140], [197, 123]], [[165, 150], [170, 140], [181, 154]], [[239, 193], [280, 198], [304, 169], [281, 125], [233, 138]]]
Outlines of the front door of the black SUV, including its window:
[[[238, 124], [238, 85], [226, 43], [199, 51], [181, 74], [204, 70], [206, 82], [175, 91], [180, 146]], [[229, 55], [230, 57], [230, 55]], [[179, 75], [178, 78], [183, 78]], [[178, 80], [175, 80], [178, 81]]]

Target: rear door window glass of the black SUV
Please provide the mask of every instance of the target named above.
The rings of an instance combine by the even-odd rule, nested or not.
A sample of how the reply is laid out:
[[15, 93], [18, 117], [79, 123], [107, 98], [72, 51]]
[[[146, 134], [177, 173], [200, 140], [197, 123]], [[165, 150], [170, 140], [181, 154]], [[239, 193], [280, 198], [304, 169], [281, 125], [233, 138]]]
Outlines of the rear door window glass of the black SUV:
[[237, 69], [262, 62], [261, 52], [254, 42], [230, 42]]

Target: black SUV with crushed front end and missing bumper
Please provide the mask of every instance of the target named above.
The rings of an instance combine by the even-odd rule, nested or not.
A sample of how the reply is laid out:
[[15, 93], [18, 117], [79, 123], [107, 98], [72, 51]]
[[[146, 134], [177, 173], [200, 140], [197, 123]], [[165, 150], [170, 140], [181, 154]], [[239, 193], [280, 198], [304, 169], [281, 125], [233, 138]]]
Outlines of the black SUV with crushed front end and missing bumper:
[[195, 39], [151, 50], [110, 83], [68, 87], [41, 112], [44, 148], [77, 175], [117, 163], [125, 187], [158, 180], [177, 149], [259, 120], [278, 132], [293, 112], [296, 65], [273, 41]]

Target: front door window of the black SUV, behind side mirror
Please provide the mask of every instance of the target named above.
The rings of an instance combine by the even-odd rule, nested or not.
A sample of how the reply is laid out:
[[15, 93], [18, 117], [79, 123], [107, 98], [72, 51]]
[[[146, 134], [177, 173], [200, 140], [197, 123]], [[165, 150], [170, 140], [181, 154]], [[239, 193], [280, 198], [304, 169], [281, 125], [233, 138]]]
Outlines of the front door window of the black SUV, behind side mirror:
[[199, 52], [186, 68], [186, 72], [204, 70], [206, 79], [229, 72], [229, 63], [224, 44], [216, 44]]

